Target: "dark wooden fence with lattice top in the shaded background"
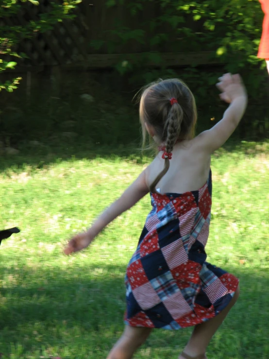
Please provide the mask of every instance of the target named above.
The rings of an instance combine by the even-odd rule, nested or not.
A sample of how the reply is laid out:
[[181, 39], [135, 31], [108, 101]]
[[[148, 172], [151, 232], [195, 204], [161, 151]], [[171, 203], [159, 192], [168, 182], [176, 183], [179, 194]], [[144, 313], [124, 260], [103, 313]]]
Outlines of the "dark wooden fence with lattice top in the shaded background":
[[[22, 4], [22, 10], [16, 16], [0, 19], [1, 25], [24, 26], [29, 20], [37, 20], [38, 15], [50, 11], [50, 0], [39, 0], [40, 5], [34, 6], [30, 2]], [[53, 30], [46, 33], [34, 33], [31, 39], [24, 39], [17, 47], [18, 52], [24, 52], [28, 58], [18, 61], [17, 70], [39, 71], [45, 66], [60, 65], [65, 68], [111, 68], [119, 61], [134, 61], [141, 57], [141, 53], [149, 51], [162, 52], [162, 61], [167, 66], [185, 66], [190, 64], [218, 63], [214, 51], [177, 52], [171, 44], [163, 44], [160, 48], [150, 46], [150, 41], [141, 44], [135, 40], [119, 43], [109, 53], [106, 44], [99, 49], [90, 46], [92, 40], [112, 39], [111, 30], [116, 22], [136, 29], [137, 24], [148, 34], [150, 39], [154, 34], [149, 25], [150, 18], [160, 15], [160, 7], [154, 1], [146, 2], [144, 11], [132, 15], [124, 6], [107, 8], [106, 0], [83, 0], [75, 10], [76, 18], [57, 23]], [[201, 30], [199, 22], [191, 23], [197, 31]], [[163, 32], [169, 32], [168, 25], [162, 25]], [[190, 49], [195, 50], [195, 49]], [[149, 66], [156, 66], [154, 61], [148, 61]]]

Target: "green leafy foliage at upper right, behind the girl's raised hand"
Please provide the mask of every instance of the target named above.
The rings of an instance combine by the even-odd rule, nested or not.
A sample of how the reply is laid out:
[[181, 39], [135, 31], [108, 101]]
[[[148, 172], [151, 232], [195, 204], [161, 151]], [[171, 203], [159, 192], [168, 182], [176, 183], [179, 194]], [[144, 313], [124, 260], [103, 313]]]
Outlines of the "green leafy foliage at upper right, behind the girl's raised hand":
[[[268, 76], [265, 61], [256, 56], [263, 21], [259, 1], [107, 0], [106, 5], [108, 10], [124, 7], [124, 14], [129, 9], [130, 15], [122, 17], [122, 21], [117, 18], [113, 28], [100, 34], [91, 45], [96, 49], [102, 47], [102, 51], [106, 48], [118, 52], [124, 44], [132, 46], [136, 41], [148, 49], [139, 59], [126, 61], [123, 55], [122, 61], [116, 65], [117, 71], [128, 77], [130, 83], [140, 85], [158, 77], [178, 76], [193, 89], [199, 108], [208, 111], [212, 100], [214, 103], [218, 100], [214, 86], [219, 75], [240, 72], [251, 106], [253, 103], [258, 105], [258, 112], [257, 106], [247, 112], [248, 121], [251, 121], [249, 135], [268, 136], [269, 119], [263, 117]], [[133, 24], [137, 24], [136, 27]], [[212, 59], [219, 62], [219, 67], [208, 65], [199, 68], [192, 64], [184, 69], [172, 69], [167, 68], [162, 59], [163, 52], [190, 51], [212, 51]], [[150, 68], [149, 63], [155, 66]], [[211, 108], [216, 117], [222, 111], [220, 108], [218, 113], [218, 106]], [[258, 117], [256, 124], [252, 123], [253, 116]]]

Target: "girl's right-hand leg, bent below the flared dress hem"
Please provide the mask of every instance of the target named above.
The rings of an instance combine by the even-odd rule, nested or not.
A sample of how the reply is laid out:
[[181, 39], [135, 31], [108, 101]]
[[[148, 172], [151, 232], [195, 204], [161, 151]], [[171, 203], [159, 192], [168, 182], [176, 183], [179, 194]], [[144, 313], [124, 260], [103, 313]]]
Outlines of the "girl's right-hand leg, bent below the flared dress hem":
[[[210, 319], [208, 322], [196, 325], [193, 333], [190, 337], [189, 342], [187, 343], [184, 353], [191, 357], [199, 357], [204, 355], [205, 350], [209, 342], [211, 341], [213, 335], [218, 330], [221, 323], [224, 321], [225, 317], [229, 313], [230, 309], [234, 306], [236, 300], [239, 296], [239, 287], [236, 289], [235, 294], [229, 305], [223, 309], [215, 318]], [[179, 359], [184, 359], [184, 356], [179, 356]]]

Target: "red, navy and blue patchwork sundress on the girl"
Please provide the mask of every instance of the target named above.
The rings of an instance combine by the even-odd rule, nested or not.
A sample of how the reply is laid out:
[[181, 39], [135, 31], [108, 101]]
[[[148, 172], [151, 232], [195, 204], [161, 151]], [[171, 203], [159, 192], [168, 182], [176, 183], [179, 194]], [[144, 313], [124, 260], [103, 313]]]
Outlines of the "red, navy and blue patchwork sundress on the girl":
[[207, 263], [212, 176], [196, 191], [151, 193], [152, 210], [125, 276], [125, 323], [179, 329], [215, 317], [238, 279]]

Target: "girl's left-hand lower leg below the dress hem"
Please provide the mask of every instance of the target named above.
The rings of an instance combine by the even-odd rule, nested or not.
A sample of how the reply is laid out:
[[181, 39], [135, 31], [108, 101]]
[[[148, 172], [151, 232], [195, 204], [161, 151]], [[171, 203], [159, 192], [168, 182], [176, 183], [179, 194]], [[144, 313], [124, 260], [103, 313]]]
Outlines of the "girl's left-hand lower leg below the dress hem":
[[106, 359], [131, 359], [136, 349], [151, 334], [151, 328], [126, 325], [122, 336], [111, 349]]

